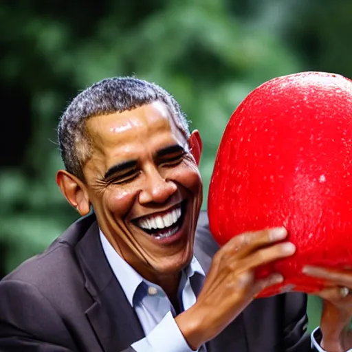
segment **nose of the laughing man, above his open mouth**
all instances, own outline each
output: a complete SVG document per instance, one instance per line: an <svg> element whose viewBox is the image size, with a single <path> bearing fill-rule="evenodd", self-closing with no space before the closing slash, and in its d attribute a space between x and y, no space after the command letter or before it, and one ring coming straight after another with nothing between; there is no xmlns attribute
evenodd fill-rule
<svg viewBox="0 0 352 352"><path fill-rule="evenodd" d="M145 175L146 179L139 195L141 204L165 203L177 191L176 184L164 179L156 168L151 168Z"/></svg>

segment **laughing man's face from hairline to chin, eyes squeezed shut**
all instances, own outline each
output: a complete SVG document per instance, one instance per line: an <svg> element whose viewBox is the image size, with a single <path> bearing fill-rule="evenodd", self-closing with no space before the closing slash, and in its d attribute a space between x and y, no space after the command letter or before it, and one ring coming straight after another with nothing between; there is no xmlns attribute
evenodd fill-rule
<svg viewBox="0 0 352 352"><path fill-rule="evenodd" d="M83 173L102 232L147 278L175 274L193 255L201 177L166 105L153 102L87 122Z"/></svg>

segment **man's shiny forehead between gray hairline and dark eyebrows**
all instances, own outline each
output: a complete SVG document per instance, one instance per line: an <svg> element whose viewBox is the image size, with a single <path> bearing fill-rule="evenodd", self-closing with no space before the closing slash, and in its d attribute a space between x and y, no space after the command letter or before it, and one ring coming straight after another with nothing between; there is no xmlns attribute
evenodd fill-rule
<svg viewBox="0 0 352 352"><path fill-rule="evenodd" d="M131 111L99 115L87 121L94 146L103 154L138 153L158 144L179 142L184 137L163 102L153 102ZM122 156L122 155L121 155Z"/></svg>

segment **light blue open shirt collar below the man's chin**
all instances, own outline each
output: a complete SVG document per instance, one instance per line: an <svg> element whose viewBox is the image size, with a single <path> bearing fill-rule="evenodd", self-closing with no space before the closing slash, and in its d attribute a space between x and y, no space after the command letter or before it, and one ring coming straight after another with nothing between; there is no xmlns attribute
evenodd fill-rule
<svg viewBox="0 0 352 352"><path fill-rule="evenodd" d="M129 263L121 258L100 229L99 235L102 243L102 250L113 270L113 274L118 279L127 300L129 300L130 305L133 307L133 296L135 295L138 286L140 286L142 282L148 283L148 281L138 274ZM186 274L187 279L192 277L195 273L200 274L201 276L206 276L195 256L193 256L192 261L190 261L190 264L185 268L184 273Z"/></svg>

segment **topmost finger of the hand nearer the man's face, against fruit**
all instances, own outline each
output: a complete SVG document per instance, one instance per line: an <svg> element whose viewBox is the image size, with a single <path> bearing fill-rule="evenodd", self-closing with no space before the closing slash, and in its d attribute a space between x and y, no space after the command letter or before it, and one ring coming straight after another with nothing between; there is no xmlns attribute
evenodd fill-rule
<svg viewBox="0 0 352 352"><path fill-rule="evenodd" d="M245 232L234 236L223 246L223 250L230 255L237 253L239 256L246 256L248 253L262 248L265 245L282 241L286 236L287 230L285 228L271 228L255 232Z"/></svg>

